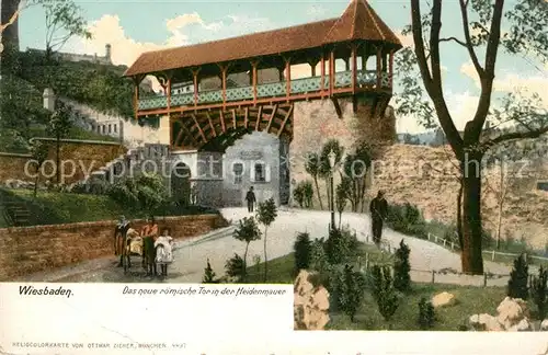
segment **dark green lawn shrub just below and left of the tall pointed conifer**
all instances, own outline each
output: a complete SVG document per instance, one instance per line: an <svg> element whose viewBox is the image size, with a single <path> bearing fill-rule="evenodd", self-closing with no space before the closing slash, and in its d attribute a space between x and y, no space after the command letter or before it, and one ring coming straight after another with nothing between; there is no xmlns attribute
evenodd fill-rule
<svg viewBox="0 0 548 355"><path fill-rule="evenodd" d="M399 306L399 297L393 288L390 267L374 265L372 267L373 297L385 321L390 321Z"/></svg>

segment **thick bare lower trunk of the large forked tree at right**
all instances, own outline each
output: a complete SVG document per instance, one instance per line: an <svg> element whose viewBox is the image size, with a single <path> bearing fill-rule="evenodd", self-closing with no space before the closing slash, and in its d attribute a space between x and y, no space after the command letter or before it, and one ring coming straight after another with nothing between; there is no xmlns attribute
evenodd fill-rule
<svg viewBox="0 0 548 355"><path fill-rule="evenodd" d="M480 153L468 153L461 162L463 169L463 273L483 274L481 254L481 158Z"/></svg>

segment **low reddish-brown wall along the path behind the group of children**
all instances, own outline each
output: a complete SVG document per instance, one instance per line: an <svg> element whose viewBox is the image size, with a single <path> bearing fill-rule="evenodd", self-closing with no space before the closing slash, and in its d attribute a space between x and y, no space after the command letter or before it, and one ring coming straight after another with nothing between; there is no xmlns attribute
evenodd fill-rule
<svg viewBox="0 0 548 355"><path fill-rule="evenodd" d="M0 282L113 255L115 224L95 221L0 229ZM140 229L144 224L144 220L134 220L133 227ZM220 215L165 217L158 219L158 224L160 229L170 228L175 239L227 226Z"/></svg>

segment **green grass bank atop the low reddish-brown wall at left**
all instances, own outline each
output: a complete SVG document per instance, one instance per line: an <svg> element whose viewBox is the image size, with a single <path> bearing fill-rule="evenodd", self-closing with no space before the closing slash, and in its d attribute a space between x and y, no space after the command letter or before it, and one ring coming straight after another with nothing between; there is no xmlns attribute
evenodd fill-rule
<svg viewBox="0 0 548 355"><path fill-rule="evenodd" d="M130 219L146 217L145 213L132 213L109 196L103 195L38 191L35 198L31 190L0 188L0 201L4 198L24 204L31 213L30 224L33 226L111 220L118 218L119 215L125 215ZM163 214L159 211L157 215L183 216L214 213L217 213L217 210L191 206L179 209L167 207ZM7 227L3 217L0 218L0 226L2 222L3 227Z"/></svg>

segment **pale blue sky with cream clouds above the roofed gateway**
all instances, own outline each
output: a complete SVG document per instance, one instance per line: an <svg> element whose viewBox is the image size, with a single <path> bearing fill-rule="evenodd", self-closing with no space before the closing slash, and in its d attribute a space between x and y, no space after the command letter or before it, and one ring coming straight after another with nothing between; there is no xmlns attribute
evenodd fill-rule
<svg viewBox="0 0 548 355"><path fill-rule="evenodd" d="M506 9L516 0L506 1ZM104 55L105 44L112 45L115 65L130 66L147 50L183 46L227 38L248 33L274 30L290 25L340 16L349 0L331 1L183 1L183 0L88 0L76 1L93 38L71 38L61 51ZM412 46L412 38L400 32L410 23L409 0L368 0L378 15L398 34L404 46ZM425 7L426 3L423 4ZM423 10L425 11L425 10ZM463 38L458 1L444 1L442 36ZM31 7L20 18L21 48L45 47L45 18L39 7ZM482 53L479 51L480 61ZM456 126L461 129L472 118L479 98L479 81L468 53L454 43L442 46L443 87ZM501 53L496 62L494 90L502 95L528 88L541 95L548 108L548 66L532 64L521 57ZM307 68L296 68L298 78L309 73ZM397 80L395 92L398 92ZM392 102L393 104L393 99ZM420 133L414 117L398 117L399 133Z"/></svg>

